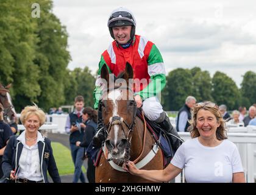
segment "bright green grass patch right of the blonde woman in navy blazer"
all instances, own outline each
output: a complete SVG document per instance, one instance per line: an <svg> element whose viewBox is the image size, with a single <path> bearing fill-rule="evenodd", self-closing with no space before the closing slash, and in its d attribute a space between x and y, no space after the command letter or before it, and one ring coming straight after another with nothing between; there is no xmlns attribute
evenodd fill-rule
<svg viewBox="0 0 256 195"><path fill-rule="evenodd" d="M74 163L70 150L61 143L52 142L51 145L60 176L74 174ZM86 172L84 166L82 166L82 171Z"/></svg>

